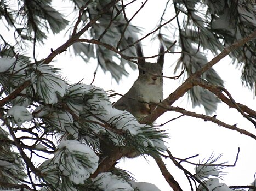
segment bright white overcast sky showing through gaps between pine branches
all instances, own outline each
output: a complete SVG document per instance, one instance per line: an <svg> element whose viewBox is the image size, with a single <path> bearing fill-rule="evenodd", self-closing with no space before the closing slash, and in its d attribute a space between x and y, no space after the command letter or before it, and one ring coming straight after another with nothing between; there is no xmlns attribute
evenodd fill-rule
<svg viewBox="0 0 256 191"><path fill-rule="evenodd" d="M143 34L150 32L155 26L162 11L166 1L157 1L157 7L155 1L149 1L145 8L139 13L133 22L133 25L140 26L145 29ZM133 5L131 10L137 10L140 6L140 1ZM58 8L57 8L58 9ZM64 10L65 8L62 8ZM127 14L129 16L128 10ZM168 17L168 19L170 19ZM175 21L174 21L175 22ZM174 23L173 22L173 23ZM39 57L46 57L50 53L50 48L55 49L63 44L66 37L61 35L56 35L51 37L47 44L42 46L41 49L37 49ZM150 42L151 37L142 41L144 56L152 56L158 52L158 42ZM178 39L174 39L178 40ZM82 79L82 82L89 84L92 82L93 73L96 68L96 61L91 61L90 63L84 63L81 58L70 57L67 51L66 54L58 55L55 58L54 66L62 68L61 73L70 82L76 83ZM179 55L166 55L164 64L164 76L173 76L172 64L177 61ZM208 56L208 60L213 57ZM225 88L231 93L232 97L236 102L242 103L249 106L250 108L256 110L255 100L253 99L253 93L248 90L248 88L242 87L241 84L241 72L231 65L231 60L225 58L215 65L214 69L217 70L218 74L225 81ZM98 71L95 77L93 85L99 86L105 90L113 89L117 93L126 93L130 86L132 86L135 81L138 71L132 71L131 76L128 78L124 77L120 84L117 85L110 77L110 74L104 75L102 71ZM175 88L179 86L179 80L164 80L164 98L166 98L170 93L172 93ZM117 98L116 98L117 99ZM112 99L115 101L116 99ZM175 106L185 108L189 111L195 111L199 114L204 112L203 108L191 108L190 102L187 100L187 96L180 98L174 103ZM179 114L174 112L167 112L162 115L157 123L163 123L168 121L170 118L177 117ZM229 109L225 104L219 104L217 110L217 118L224 121L227 124L236 124L237 127L241 129L248 130L251 133L256 133L255 127L252 123L244 120L240 113L235 109ZM253 182L254 174L256 172L256 144L255 140L249 138L248 136L241 135L238 132L225 129L224 127L219 127L211 122L204 122L200 119L194 119L192 117L181 117L178 120L168 123L162 129L167 129L170 139L166 140L169 150L172 152L173 156L178 158L187 158L194 156L195 154L200 154L199 157L191 159L191 162L198 162L200 159L208 158L211 153L214 152L215 156L223 154L223 157L219 162L229 161L228 164L233 164L236 159L237 148L240 147L240 156L238 162L234 168L223 169L224 172L229 174L224 175L224 182L229 186L238 185L248 185ZM183 190L190 190L189 183L183 174L183 171L176 168L169 159L164 159L167 164L167 169L174 176L174 178L180 183ZM181 163L187 170L190 170L192 174L194 173L194 166ZM156 184L161 190L171 190L166 181L164 180L161 172L158 170L158 166L155 162L149 158L146 162L143 157L138 157L135 159L122 159L118 164L124 170L132 172L137 181L150 182Z"/></svg>

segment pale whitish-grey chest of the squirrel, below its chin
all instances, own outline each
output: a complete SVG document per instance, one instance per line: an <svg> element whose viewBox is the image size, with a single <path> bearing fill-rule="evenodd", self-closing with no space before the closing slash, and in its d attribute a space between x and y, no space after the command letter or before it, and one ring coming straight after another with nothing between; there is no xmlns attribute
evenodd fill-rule
<svg viewBox="0 0 256 191"><path fill-rule="evenodd" d="M158 85L140 86L140 95L145 102L158 103L163 100L163 87Z"/></svg>

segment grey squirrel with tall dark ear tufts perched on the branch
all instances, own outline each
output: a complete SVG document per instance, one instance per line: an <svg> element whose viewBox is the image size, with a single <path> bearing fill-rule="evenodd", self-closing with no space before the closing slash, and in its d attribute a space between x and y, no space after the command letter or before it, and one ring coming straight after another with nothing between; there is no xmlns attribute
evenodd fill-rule
<svg viewBox="0 0 256 191"><path fill-rule="evenodd" d="M113 107L126 110L139 121L149 115L155 105L163 100L163 62L164 45L160 44L159 56L156 63L146 62L143 50L138 43L136 46L138 56L139 76L129 91L120 98Z"/></svg>

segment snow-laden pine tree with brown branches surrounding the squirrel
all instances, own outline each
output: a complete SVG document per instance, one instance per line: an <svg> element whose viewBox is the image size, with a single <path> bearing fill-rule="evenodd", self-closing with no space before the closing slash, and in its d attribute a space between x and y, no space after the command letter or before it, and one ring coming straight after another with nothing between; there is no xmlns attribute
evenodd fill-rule
<svg viewBox="0 0 256 191"><path fill-rule="evenodd" d="M141 153L145 161L153 157L173 190L181 190L183 183L168 171L163 157L184 172L191 190L256 190L255 181L251 186L233 187L219 181L221 169L235 166L240 150L234 165L217 163L221 156L214 155L192 163L190 158L174 157L165 145L169 135L153 124L164 112L173 111L256 139L236 124L210 116L222 102L256 126L256 111L236 103L212 68L230 55L233 64L242 68L243 85L255 89L254 1L167 0L157 27L147 34L133 25L147 0L135 11L130 7L136 0L70 0L65 1L67 7L54 3L59 2L0 0L1 190L159 190L151 183L135 182L129 169L115 166L127 148ZM133 13L130 18L128 11ZM67 41L45 50L49 55L43 57L45 52L38 47L50 36L63 34ZM96 59L97 69L109 72L118 82L129 75L127 66L136 69L135 45L150 35L163 42L164 53L180 53L174 73L181 73L164 77L181 83L140 122L112 107L112 92L70 83L52 66L64 53L81 57L84 63ZM212 61L208 53L215 56ZM204 107L206 115L172 106L185 93L192 106ZM105 145L112 151L106 158L101 151ZM195 173L181 162L195 165Z"/></svg>

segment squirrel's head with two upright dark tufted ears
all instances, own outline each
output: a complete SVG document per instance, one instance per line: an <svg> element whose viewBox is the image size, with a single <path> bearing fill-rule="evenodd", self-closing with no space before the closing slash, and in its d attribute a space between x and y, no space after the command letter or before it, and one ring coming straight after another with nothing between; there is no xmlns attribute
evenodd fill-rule
<svg viewBox="0 0 256 191"><path fill-rule="evenodd" d="M143 50L140 43L137 47L138 68L139 68L139 82L146 83L147 85L162 85L163 83L163 61L164 61L164 45L160 44L159 56L156 63L146 62L143 58Z"/></svg>

